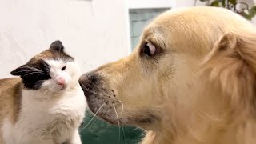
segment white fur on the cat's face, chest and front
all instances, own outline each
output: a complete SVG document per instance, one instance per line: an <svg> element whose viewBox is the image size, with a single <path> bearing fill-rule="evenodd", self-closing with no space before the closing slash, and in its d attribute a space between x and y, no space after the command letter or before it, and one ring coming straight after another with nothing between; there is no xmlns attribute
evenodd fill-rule
<svg viewBox="0 0 256 144"><path fill-rule="evenodd" d="M6 144L81 144L78 134L86 110L86 99L78 84L80 72L75 62L46 60L50 65L50 80L40 90L22 89L21 111L12 125L5 119L2 125ZM66 70L61 70L63 66ZM66 78L66 87L54 82ZM47 90L48 89L48 90Z"/></svg>

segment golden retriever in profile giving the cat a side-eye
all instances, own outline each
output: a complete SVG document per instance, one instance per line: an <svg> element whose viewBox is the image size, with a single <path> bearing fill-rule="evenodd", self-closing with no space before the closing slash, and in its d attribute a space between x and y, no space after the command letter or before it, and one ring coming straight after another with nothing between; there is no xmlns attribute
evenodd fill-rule
<svg viewBox="0 0 256 144"><path fill-rule="evenodd" d="M214 7L170 10L132 54L79 79L90 110L145 144L256 143L256 29Z"/></svg>

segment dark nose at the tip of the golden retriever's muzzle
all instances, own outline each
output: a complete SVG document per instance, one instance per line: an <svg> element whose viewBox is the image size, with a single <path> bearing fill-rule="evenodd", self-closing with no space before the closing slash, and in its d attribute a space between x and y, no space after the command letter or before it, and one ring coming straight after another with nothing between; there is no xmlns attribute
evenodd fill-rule
<svg viewBox="0 0 256 144"><path fill-rule="evenodd" d="M83 74L79 78L79 84L86 97L89 97L91 94L94 94L94 87L97 87L98 79L98 74L94 73Z"/></svg>

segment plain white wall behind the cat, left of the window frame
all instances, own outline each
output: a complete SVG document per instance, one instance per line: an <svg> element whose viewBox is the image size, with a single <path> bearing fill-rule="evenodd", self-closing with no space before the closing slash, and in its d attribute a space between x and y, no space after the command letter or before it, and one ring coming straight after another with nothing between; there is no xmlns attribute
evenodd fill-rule
<svg viewBox="0 0 256 144"><path fill-rule="evenodd" d="M128 53L122 0L1 0L0 78L60 39L82 71Z"/></svg>

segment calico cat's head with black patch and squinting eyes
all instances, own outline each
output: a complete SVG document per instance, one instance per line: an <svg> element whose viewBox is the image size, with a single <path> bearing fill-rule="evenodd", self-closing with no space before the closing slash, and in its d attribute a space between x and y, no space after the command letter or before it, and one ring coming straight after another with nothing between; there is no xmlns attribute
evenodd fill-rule
<svg viewBox="0 0 256 144"><path fill-rule="evenodd" d="M10 74L22 78L27 90L66 90L78 77L78 66L74 58L66 54L62 42L55 41L48 50L37 54L25 65L13 70Z"/></svg>

